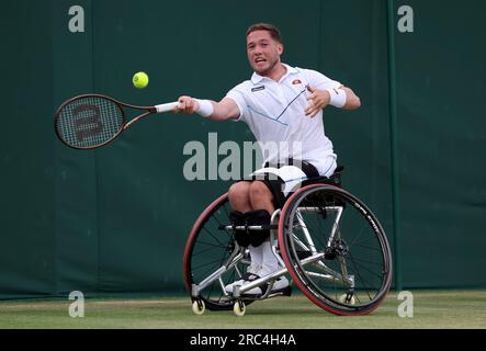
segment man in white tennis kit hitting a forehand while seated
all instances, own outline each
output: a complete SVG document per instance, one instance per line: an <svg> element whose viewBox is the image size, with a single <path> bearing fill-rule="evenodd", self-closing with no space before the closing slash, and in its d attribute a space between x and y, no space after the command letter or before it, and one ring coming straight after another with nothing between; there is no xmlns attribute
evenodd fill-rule
<svg viewBox="0 0 486 351"><path fill-rule="evenodd" d="M354 110L361 102L338 81L315 70L282 64L281 34L271 24L258 23L248 29L247 54L255 70L250 80L233 88L219 102L181 97L174 112L199 113L215 121L245 121L260 145L285 144L282 148L263 147L263 168L253 172L251 179L234 183L228 191L234 225L268 225L274 210L283 205L302 180L330 177L336 169L332 143L325 135L323 109L334 105ZM292 149L292 145L298 147ZM273 176L273 181L269 176ZM228 293L236 284L280 269L269 230L236 230L235 238L249 248L251 264L241 280L225 287ZM289 281L281 276L272 292L287 286ZM246 294L261 295L264 290L265 286L256 287Z"/></svg>

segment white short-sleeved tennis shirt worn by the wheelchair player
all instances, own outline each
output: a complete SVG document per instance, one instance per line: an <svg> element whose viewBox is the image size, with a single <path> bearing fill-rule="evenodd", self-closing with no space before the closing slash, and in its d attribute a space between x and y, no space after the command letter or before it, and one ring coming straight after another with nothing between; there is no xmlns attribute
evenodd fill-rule
<svg viewBox="0 0 486 351"><path fill-rule="evenodd" d="M315 70L284 66L286 73L280 81L253 72L226 98L236 102L237 121L245 121L260 144L263 163L293 157L313 163L325 176L329 165L336 165L336 155L325 134L323 110L313 118L305 115L310 95L306 87L324 90L341 83Z"/></svg>

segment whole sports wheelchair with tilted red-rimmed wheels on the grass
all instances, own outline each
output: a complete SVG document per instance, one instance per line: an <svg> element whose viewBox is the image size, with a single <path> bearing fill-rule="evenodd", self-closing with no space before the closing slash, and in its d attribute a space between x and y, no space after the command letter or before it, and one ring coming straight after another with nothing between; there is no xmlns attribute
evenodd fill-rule
<svg viewBox="0 0 486 351"><path fill-rule="evenodd" d="M389 245L375 215L340 186L342 169L331 178L304 181L268 226L231 226L227 194L213 201L192 227L184 250L184 283L194 314L233 309L244 316L255 301L290 296L292 285L335 315L365 315L377 308L392 283ZM251 262L249 250L236 242L235 229L270 229L282 269L228 294L225 286L241 279ZM273 282L283 274L290 274L291 285L272 294ZM264 284L261 296L245 295Z"/></svg>

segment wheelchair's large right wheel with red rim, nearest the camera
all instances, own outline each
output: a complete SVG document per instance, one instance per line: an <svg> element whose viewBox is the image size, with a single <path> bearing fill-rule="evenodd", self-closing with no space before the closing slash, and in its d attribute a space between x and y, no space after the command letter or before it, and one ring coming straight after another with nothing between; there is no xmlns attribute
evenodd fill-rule
<svg viewBox="0 0 486 351"><path fill-rule="evenodd" d="M282 208L279 246L295 284L332 314L369 314L389 290L386 235L374 214L340 188L310 184L296 191Z"/></svg>

